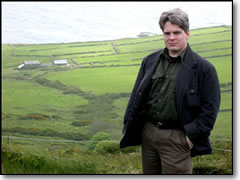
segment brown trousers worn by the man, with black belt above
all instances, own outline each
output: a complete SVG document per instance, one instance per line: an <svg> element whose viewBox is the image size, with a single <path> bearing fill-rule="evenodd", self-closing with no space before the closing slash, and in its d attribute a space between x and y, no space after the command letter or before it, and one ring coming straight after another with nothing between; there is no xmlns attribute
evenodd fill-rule
<svg viewBox="0 0 240 180"><path fill-rule="evenodd" d="M142 133L144 174L192 174L186 135L178 129L160 129L146 122Z"/></svg>

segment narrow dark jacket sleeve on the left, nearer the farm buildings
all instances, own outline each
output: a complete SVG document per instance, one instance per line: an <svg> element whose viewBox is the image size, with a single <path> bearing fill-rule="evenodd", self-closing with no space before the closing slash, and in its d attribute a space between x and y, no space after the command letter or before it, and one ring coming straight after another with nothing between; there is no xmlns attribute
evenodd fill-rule
<svg viewBox="0 0 240 180"><path fill-rule="evenodd" d="M138 90L138 87L144 77L144 74L145 74L145 63L146 63L146 57L143 59L142 61L142 64L141 64L141 67L140 67L140 70L138 72L138 75L137 75L137 79L136 79L136 82L134 84L134 87L133 87L133 90L132 90L132 93L131 93L131 96L130 96L130 99L128 101L128 105L127 105L127 108L126 108L126 111L125 111L125 115L124 115L124 128L123 128L123 134L125 134L125 130L126 130L126 127L127 127L127 122L129 121L129 116L131 114L131 110L132 110L132 105L135 101L135 97L136 97L136 93L137 93L137 90Z"/></svg>

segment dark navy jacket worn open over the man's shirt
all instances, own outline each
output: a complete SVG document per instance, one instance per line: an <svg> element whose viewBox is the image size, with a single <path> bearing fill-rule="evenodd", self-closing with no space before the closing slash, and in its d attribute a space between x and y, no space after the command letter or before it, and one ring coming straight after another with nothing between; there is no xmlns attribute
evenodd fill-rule
<svg viewBox="0 0 240 180"><path fill-rule="evenodd" d="M120 148L141 144L146 97L162 53L163 49L154 52L142 62L124 115ZM176 79L176 107L178 120L194 144L192 156L212 152L209 135L219 106L220 87L214 66L188 45Z"/></svg>

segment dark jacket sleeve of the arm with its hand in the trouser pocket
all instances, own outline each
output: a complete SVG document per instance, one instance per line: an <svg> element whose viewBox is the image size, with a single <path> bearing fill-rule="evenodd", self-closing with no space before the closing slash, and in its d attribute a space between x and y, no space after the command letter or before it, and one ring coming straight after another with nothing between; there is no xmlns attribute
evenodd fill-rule
<svg viewBox="0 0 240 180"><path fill-rule="evenodd" d="M212 65L203 74L200 93L200 112L192 122L184 126L187 136L193 143L197 142L199 138L210 135L220 107L219 80Z"/></svg>

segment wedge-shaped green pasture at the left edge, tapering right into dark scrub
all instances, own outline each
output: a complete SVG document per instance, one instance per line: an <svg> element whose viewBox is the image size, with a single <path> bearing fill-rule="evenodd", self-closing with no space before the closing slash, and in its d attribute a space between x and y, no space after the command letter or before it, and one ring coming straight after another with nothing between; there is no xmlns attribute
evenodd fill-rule
<svg viewBox="0 0 240 180"><path fill-rule="evenodd" d="M58 109L69 111L77 105L88 103L80 96L74 97L70 94L63 96L56 89L30 82L10 79L2 82L2 88L2 111L7 114L51 112L50 108L53 112Z"/></svg>

